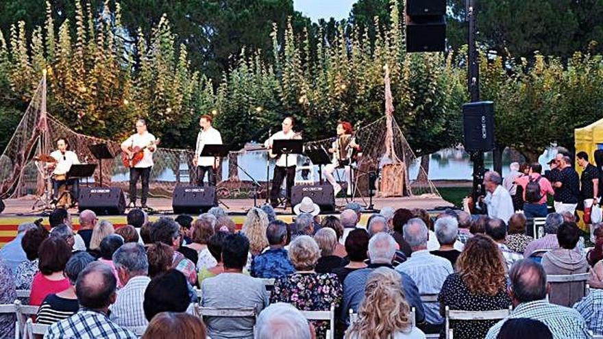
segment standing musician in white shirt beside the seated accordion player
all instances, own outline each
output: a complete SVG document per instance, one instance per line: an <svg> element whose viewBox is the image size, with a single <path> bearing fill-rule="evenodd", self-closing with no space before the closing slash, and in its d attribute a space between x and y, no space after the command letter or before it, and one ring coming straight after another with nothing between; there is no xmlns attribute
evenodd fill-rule
<svg viewBox="0 0 603 339"><path fill-rule="evenodd" d="M282 131L279 131L273 134L266 142L264 142L264 147L267 149L272 149L272 144L274 140L281 139L300 139L298 133L293 131L293 125L295 125L295 120L292 116L287 116L284 118L282 122ZM286 177L286 194L287 201L285 204L285 208L291 206L291 188L293 184L295 184L295 166L297 165L297 154L281 154L278 156L276 160L276 164L274 166L274 174L272 179L272 188L270 189L270 204L273 208L278 206L278 198L280 197L280 186L284 178Z"/></svg>

